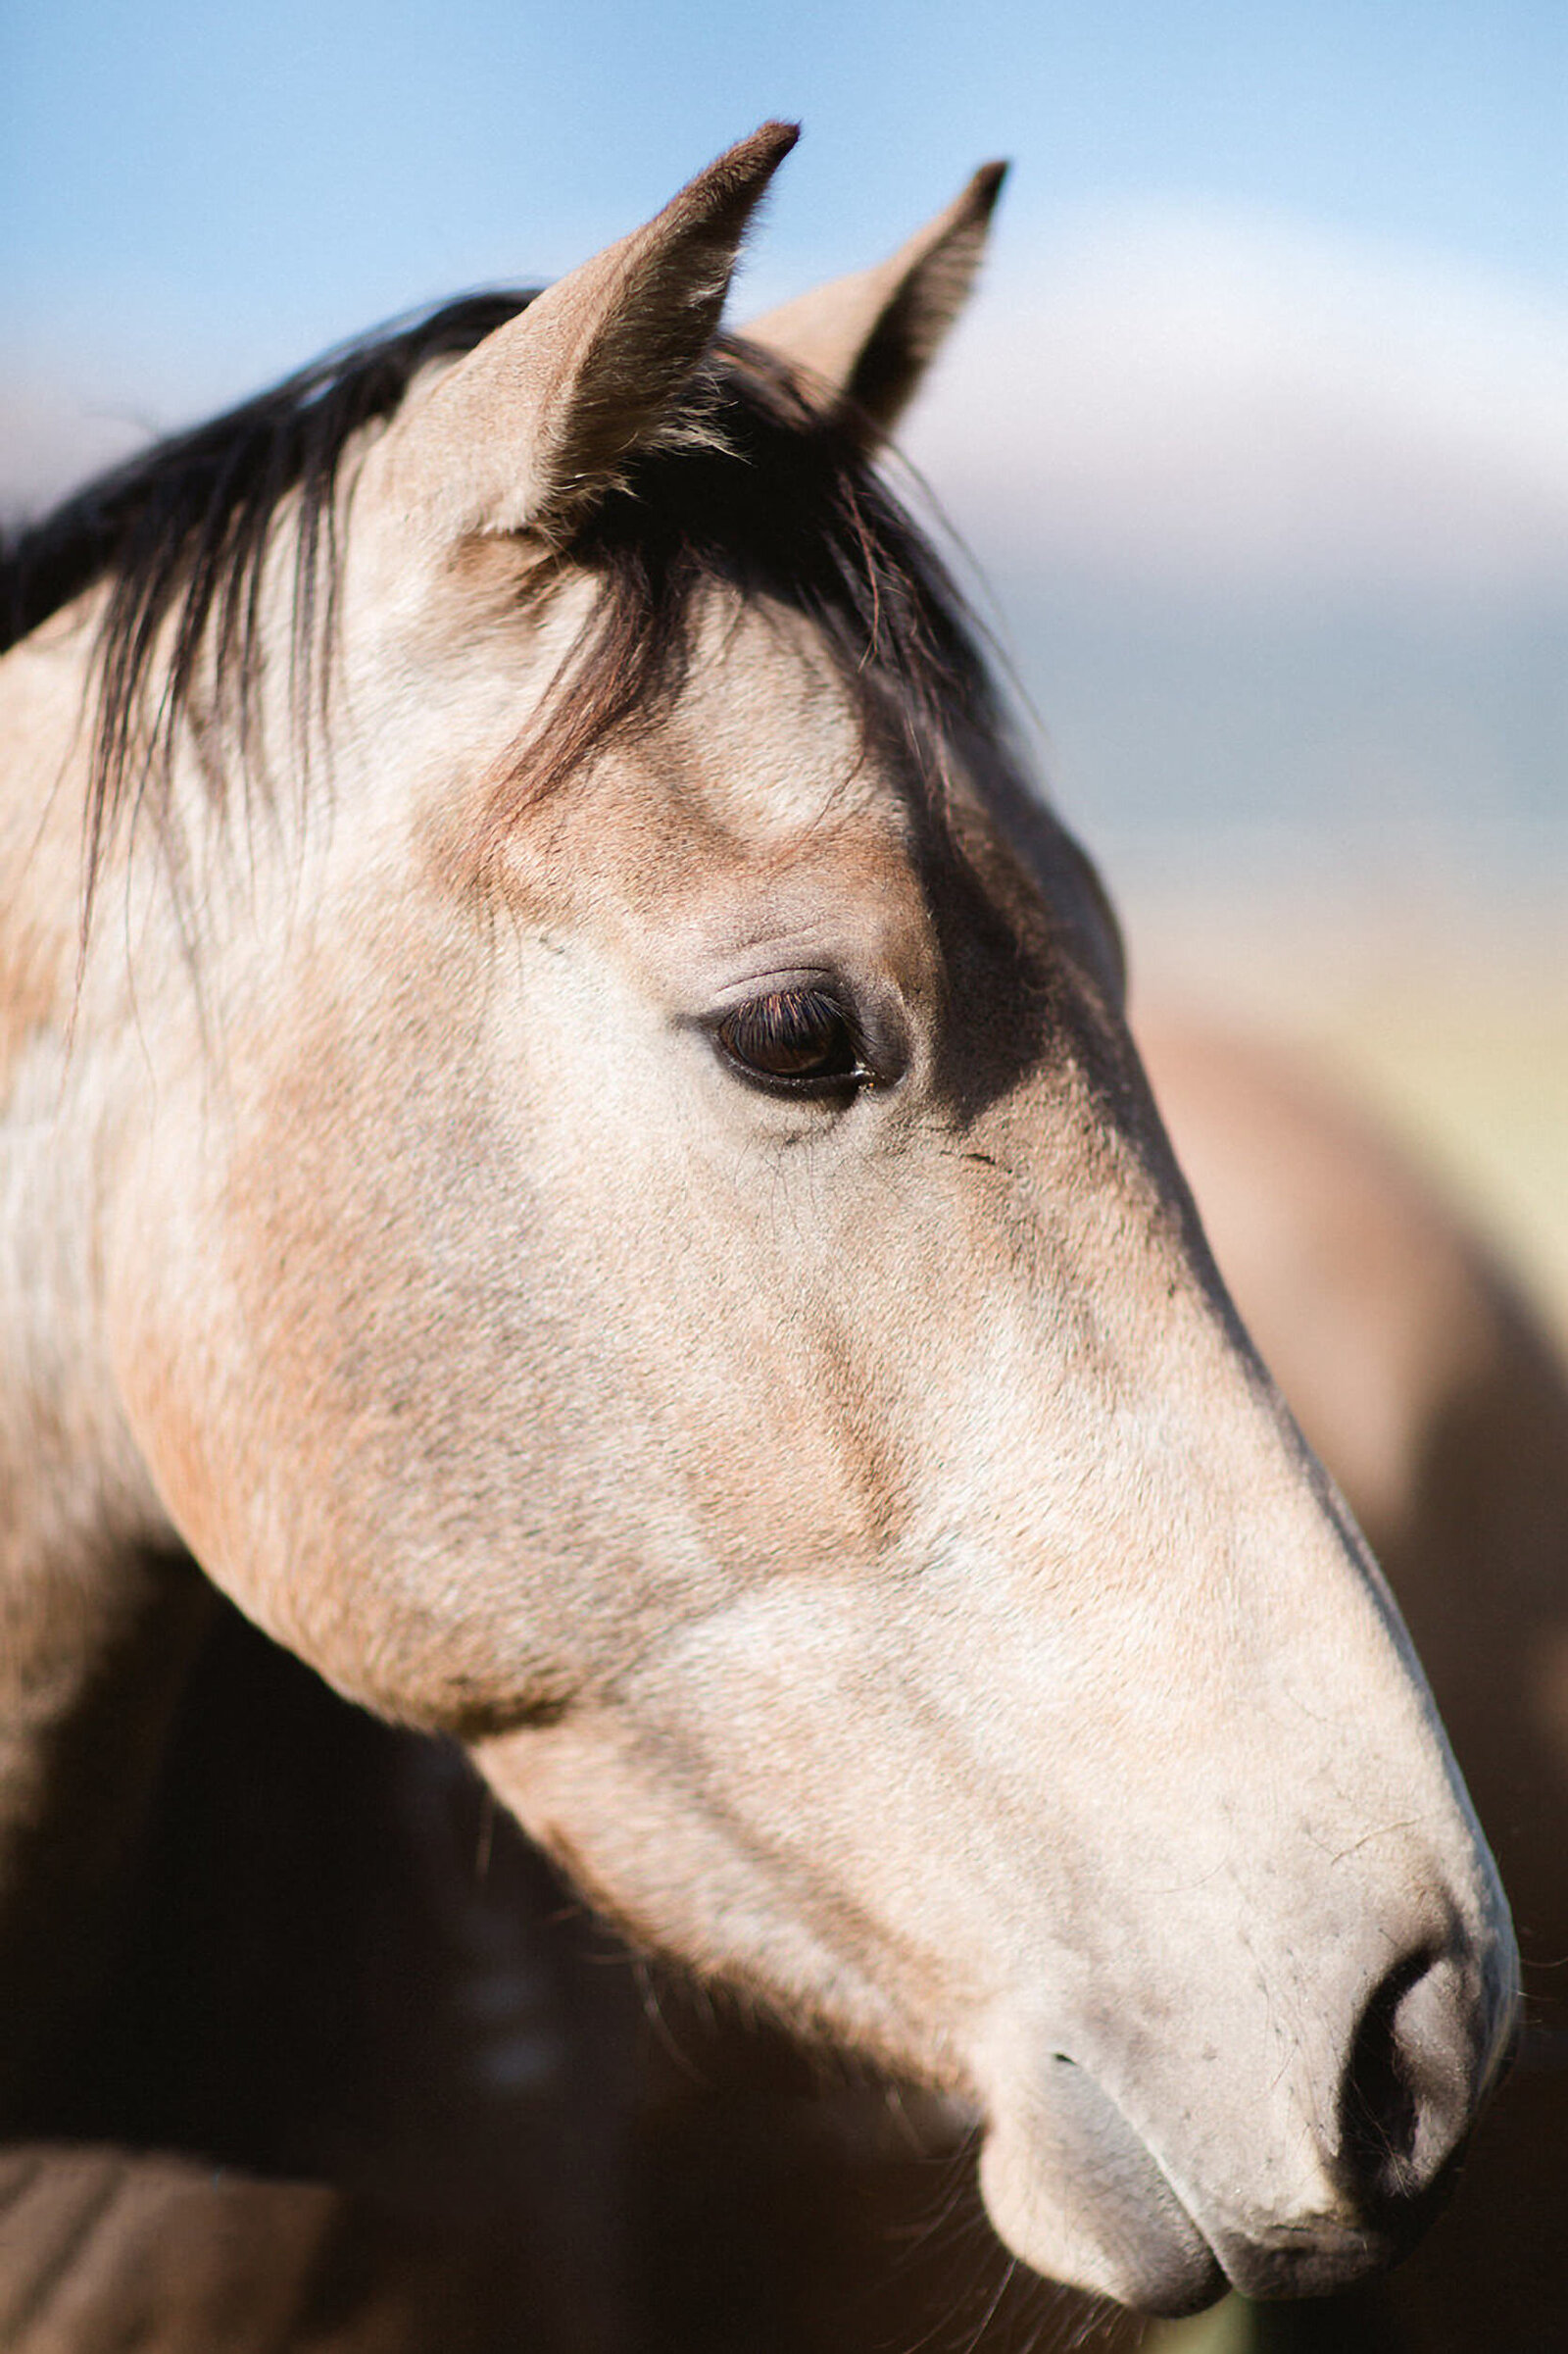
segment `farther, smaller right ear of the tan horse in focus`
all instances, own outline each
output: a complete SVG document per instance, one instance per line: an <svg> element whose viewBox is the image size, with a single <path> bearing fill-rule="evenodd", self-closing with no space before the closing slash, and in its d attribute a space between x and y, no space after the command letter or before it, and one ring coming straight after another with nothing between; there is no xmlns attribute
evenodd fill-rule
<svg viewBox="0 0 1568 2354"><path fill-rule="evenodd" d="M746 339L812 377L859 440L883 440L968 301L1005 172L982 162L897 254L770 311Z"/></svg>

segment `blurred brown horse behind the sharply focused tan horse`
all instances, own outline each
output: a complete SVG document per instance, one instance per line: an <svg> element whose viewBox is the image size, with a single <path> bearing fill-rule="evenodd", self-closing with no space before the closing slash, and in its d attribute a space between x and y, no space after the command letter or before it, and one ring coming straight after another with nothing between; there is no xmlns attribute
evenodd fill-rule
<svg viewBox="0 0 1568 2354"><path fill-rule="evenodd" d="M1349 2300L1227 2312L1222 2342L1544 2354L1568 2305L1568 1370L1467 1217L1309 1064L1158 1003L1135 1033L1248 1330L1431 1662L1528 1989L1523 2055L1417 2255ZM144 2316L158 2354L315 2345L325 2316L356 2354L499 2354L518 2314L563 2354L1140 2342L1001 2281L937 2112L678 1982L650 2022L633 1959L452 1749L337 1702L231 1608L139 1878L57 2112L92 2147L0 2161L0 2342L21 2354L89 2354ZM45 2302L28 2335L21 2295L82 2213L73 2328Z"/></svg>

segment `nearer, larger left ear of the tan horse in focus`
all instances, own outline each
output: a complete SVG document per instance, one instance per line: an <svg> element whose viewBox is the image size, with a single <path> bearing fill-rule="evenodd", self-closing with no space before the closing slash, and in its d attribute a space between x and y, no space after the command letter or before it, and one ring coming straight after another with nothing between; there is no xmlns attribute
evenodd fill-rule
<svg viewBox="0 0 1568 2354"><path fill-rule="evenodd" d="M796 139L796 125L765 122L487 334L393 426L393 499L443 539L570 532L687 388L746 221Z"/></svg>

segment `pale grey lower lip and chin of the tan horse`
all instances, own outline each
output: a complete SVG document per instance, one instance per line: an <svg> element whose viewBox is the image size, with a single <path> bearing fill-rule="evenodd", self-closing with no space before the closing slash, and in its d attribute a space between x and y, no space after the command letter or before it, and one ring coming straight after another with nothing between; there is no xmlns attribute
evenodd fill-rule
<svg viewBox="0 0 1568 2354"><path fill-rule="evenodd" d="M1224 2295L1215 2250L1092 2076L1052 2060L1045 2100L986 2135L979 2189L1034 2272L1177 2319Z"/></svg>

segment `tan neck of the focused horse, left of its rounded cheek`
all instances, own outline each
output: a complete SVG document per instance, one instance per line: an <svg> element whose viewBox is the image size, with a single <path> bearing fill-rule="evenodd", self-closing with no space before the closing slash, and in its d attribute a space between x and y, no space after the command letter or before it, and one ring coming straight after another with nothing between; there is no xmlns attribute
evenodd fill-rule
<svg viewBox="0 0 1568 2354"><path fill-rule="evenodd" d="M104 1328L137 1017L78 956L87 643L57 624L0 661L0 2116L42 2123L200 1608L158 1565Z"/></svg>

